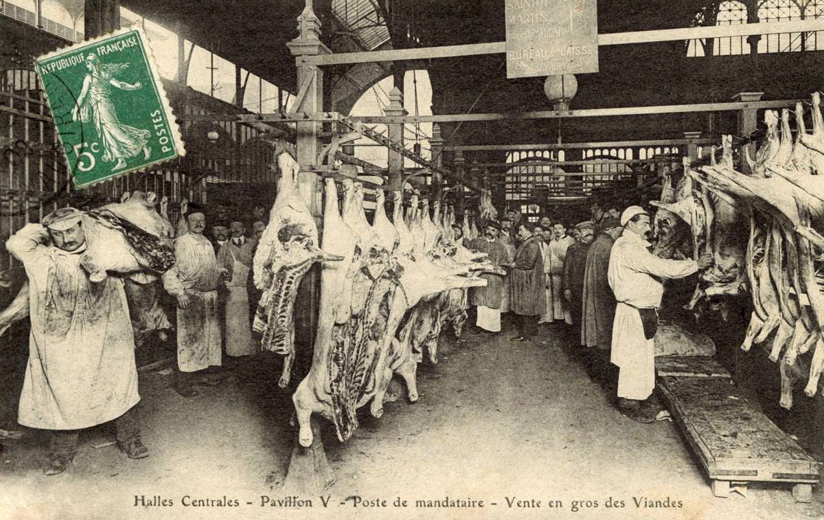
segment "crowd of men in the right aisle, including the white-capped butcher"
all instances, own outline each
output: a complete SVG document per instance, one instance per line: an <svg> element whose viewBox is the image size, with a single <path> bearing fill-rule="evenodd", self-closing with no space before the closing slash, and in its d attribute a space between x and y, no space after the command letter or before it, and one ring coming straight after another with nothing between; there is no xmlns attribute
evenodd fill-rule
<svg viewBox="0 0 824 520"><path fill-rule="evenodd" d="M678 279L704 269L698 260L664 260L650 251L652 227L640 206L622 212L593 204L591 220L567 227L541 216L536 223L517 210L486 225L484 236L466 243L489 253L505 275L483 274L486 287L472 289L475 325L501 330L511 312L514 341L533 340L542 323L559 324L564 336L583 347L598 372L618 368L617 405L622 415L651 423L658 412L650 401L655 387L654 342L662 279ZM544 341L545 344L549 340Z"/></svg>

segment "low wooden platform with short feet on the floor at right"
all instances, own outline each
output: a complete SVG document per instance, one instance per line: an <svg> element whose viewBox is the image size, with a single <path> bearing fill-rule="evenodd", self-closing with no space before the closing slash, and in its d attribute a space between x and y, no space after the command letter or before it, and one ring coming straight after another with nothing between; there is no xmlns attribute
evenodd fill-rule
<svg viewBox="0 0 824 520"><path fill-rule="evenodd" d="M656 359L658 388L687 443L712 480L713 494L746 491L753 481L793 485L798 502L812 500L821 463L798 446L733 384L713 358Z"/></svg>

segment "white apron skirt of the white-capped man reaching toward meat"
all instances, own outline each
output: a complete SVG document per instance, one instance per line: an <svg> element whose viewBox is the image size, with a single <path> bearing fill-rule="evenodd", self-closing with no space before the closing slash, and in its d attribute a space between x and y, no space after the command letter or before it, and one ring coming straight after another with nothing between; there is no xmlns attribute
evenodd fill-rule
<svg viewBox="0 0 824 520"><path fill-rule="evenodd" d="M644 337L638 309L618 302L612 326L611 362L620 368L618 396L643 401L655 389L655 340Z"/></svg>

